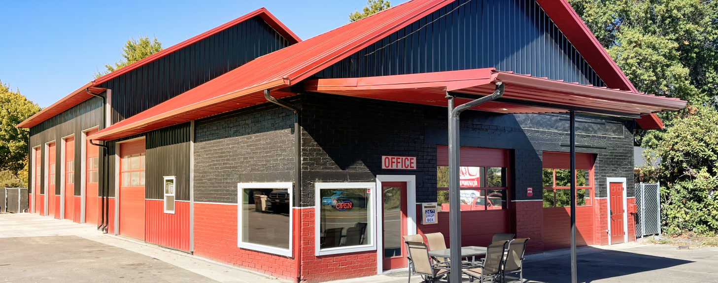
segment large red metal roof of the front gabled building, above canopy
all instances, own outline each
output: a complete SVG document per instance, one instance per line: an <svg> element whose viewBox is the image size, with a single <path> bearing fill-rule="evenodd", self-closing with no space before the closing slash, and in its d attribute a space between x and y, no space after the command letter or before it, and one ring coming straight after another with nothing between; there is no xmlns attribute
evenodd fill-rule
<svg viewBox="0 0 718 283"><path fill-rule="evenodd" d="M361 50L388 34L406 27L453 0L413 0L346 24L325 34L257 58L246 65L193 88L142 113L103 129L92 139L112 140L159 129L225 111L265 103L264 89L280 89L297 83L339 60ZM554 3L560 2L560 3ZM579 52L597 64L597 72L611 88L635 91L565 0L539 1L559 28L569 29L567 37ZM554 11L556 10L556 11ZM573 27L572 27L573 26ZM563 29L561 29L563 31ZM582 41L584 39L584 41ZM587 59L587 60L589 60ZM292 93L274 92L277 98ZM650 117L650 116L649 116ZM643 120L643 119L641 119ZM659 120L660 121L660 120ZM653 121L655 122L655 121ZM650 123L647 123L650 124ZM653 123L654 125L656 123ZM646 129L646 128L644 128Z"/></svg>

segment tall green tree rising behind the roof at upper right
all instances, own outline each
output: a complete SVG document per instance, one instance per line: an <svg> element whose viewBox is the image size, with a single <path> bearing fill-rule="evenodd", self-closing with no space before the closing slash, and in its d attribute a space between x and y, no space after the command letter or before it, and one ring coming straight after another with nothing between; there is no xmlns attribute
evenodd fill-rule
<svg viewBox="0 0 718 283"><path fill-rule="evenodd" d="M718 96L718 1L569 3L639 91L694 105L714 103Z"/></svg>

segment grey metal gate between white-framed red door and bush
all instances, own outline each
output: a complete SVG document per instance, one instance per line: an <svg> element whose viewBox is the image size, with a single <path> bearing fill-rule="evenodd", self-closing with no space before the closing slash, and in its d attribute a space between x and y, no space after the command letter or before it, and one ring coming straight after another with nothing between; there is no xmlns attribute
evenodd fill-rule
<svg viewBox="0 0 718 283"><path fill-rule="evenodd" d="M661 183L636 186L636 226L637 237L661 234Z"/></svg>

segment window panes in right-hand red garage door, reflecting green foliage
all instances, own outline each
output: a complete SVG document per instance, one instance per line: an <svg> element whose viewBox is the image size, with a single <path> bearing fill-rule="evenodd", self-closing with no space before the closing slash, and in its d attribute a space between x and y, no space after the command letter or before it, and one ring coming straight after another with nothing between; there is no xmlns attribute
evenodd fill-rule
<svg viewBox="0 0 718 283"><path fill-rule="evenodd" d="M567 169L544 168L544 208L571 206L571 175ZM593 190L589 170L576 170L576 205L591 205Z"/></svg>

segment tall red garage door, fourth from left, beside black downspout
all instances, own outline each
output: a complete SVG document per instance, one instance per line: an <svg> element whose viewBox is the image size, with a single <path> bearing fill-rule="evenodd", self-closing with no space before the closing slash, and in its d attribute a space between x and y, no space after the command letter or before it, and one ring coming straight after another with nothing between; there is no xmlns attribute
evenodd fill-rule
<svg viewBox="0 0 718 283"><path fill-rule="evenodd" d="M95 134L97 130L88 131L87 136ZM98 147L90 144L90 140L85 141L85 222L100 224L98 219L100 211L100 200L98 194L98 180L100 178L100 157L98 157Z"/></svg>

